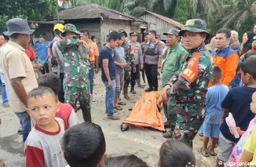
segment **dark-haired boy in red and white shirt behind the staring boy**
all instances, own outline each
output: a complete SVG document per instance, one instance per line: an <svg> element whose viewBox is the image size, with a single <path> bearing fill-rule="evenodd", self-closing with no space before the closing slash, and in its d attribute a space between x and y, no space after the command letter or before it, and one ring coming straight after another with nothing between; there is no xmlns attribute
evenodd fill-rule
<svg viewBox="0 0 256 167"><path fill-rule="evenodd" d="M60 93L60 77L57 74L44 74L38 81L39 86L46 86L53 90L56 95L57 102L60 103L58 96ZM57 118L61 118L64 121L65 130L73 125L79 124L79 118L77 118L73 107L68 103L60 103L60 111L56 113Z"/></svg>

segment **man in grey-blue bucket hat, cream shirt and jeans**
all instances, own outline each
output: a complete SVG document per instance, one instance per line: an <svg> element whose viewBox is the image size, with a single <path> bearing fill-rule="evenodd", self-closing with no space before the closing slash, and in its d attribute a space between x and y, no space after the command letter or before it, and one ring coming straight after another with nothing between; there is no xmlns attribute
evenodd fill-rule
<svg viewBox="0 0 256 167"><path fill-rule="evenodd" d="M5 87L12 111L20 120L23 141L31 131L31 118L26 112L27 93L38 87L35 70L40 67L32 65L25 50L29 48L30 35L34 32L27 21L15 18L7 21L9 42L0 49L0 63L5 76Z"/></svg>

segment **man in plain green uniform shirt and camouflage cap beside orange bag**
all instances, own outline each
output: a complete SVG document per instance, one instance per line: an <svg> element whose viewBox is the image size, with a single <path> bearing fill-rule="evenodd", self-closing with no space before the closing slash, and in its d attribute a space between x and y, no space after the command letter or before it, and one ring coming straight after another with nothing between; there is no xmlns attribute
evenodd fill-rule
<svg viewBox="0 0 256 167"><path fill-rule="evenodd" d="M166 59L163 62L162 88L170 82L170 78L177 74L184 62L185 56L188 54L188 52L179 44L178 33L179 31L176 28L171 28L168 32L163 33L166 35L166 46L168 49L166 50ZM171 129L164 133L163 136L170 138L174 132L177 120L176 101L174 96L171 96L167 103L163 103L163 111L167 118L165 127Z"/></svg>

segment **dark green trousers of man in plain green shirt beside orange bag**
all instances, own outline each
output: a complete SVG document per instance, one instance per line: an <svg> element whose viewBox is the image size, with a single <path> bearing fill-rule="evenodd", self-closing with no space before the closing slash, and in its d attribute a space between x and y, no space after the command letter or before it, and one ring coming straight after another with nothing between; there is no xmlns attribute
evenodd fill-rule
<svg viewBox="0 0 256 167"><path fill-rule="evenodd" d="M163 103L163 111L167 118L167 122L170 123L172 130L176 125L177 121L177 111L176 111L176 99L175 97L170 97L167 103Z"/></svg>

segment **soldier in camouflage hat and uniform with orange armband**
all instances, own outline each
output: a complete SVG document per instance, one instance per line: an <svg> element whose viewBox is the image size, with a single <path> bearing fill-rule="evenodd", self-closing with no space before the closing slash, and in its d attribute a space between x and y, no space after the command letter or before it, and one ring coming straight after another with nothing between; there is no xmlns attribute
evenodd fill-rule
<svg viewBox="0 0 256 167"><path fill-rule="evenodd" d="M207 51L204 41L210 38L206 30L207 24L203 20L188 20L179 32L183 36L183 44L188 50L185 62L177 74L165 86L158 104L176 97L177 121L173 138L188 143L192 147L192 140L203 124L206 107L207 85L213 71L213 60Z"/></svg>

